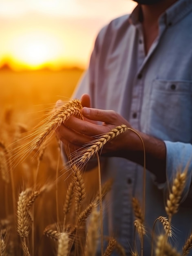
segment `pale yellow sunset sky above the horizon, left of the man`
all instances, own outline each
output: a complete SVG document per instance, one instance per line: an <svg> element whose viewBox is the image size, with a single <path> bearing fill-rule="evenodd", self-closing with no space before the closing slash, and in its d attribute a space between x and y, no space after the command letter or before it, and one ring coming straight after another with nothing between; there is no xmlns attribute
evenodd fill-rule
<svg viewBox="0 0 192 256"><path fill-rule="evenodd" d="M99 29L134 7L132 0L0 0L0 65L86 67Z"/></svg>

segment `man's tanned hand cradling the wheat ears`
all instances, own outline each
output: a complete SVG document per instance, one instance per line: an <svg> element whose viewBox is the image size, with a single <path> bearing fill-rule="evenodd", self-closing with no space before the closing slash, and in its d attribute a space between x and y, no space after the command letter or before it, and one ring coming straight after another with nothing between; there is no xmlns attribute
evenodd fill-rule
<svg viewBox="0 0 192 256"><path fill-rule="evenodd" d="M73 153L74 150L79 150L85 143L93 140L93 136L109 132L116 126L125 124L127 127L131 128L126 119L112 110L83 108L82 115L84 115L86 121L70 117L65 122L65 125L57 129L58 137L65 146L68 147L70 153ZM93 121L102 121L103 123L102 125L97 125L97 123ZM141 145L140 141L139 143ZM126 131L124 134L108 142L104 146L102 153L108 156L124 156L128 148L132 147L132 145L135 148L137 144L137 135L135 135L134 132L131 132L130 135L130 131Z"/></svg>

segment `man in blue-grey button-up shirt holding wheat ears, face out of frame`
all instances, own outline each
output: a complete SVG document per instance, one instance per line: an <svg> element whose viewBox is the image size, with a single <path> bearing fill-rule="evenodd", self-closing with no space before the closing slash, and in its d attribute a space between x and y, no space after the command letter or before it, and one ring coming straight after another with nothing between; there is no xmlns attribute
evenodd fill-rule
<svg viewBox="0 0 192 256"><path fill-rule="evenodd" d="M145 225L149 233L155 219L166 216L164 192L178 170L188 166L170 240L181 251L192 231L192 1L137 2L130 16L113 20L97 36L89 68L73 95L73 99L82 97L83 106L88 107L82 110L87 121L71 117L57 134L74 150L91 136L121 124L138 132L146 150ZM143 201L139 136L127 131L102 150L107 156L102 179L115 180L105 206L104 234L113 234L127 255L134 244L132 197ZM150 242L148 235L144 255L150 255Z"/></svg>

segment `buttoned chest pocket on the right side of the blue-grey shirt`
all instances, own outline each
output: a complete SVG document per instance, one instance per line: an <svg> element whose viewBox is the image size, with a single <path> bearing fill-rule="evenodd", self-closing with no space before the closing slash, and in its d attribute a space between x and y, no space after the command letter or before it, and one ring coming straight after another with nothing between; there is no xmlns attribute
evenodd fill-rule
<svg viewBox="0 0 192 256"><path fill-rule="evenodd" d="M192 81L154 80L148 106L149 134L192 142Z"/></svg>

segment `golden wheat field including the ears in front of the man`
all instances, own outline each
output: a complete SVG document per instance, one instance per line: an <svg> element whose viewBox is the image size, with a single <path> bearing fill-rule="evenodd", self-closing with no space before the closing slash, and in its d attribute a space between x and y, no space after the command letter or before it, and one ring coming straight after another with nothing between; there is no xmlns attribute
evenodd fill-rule
<svg viewBox="0 0 192 256"><path fill-rule="evenodd" d="M81 75L82 70L77 69L0 72L0 256L95 256L98 243L101 256L110 256L113 251L125 256L113 236L103 236L102 200L113 181L101 185L98 152L127 130L137 132L121 124L95 137L80 153L70 155L69 167L63 166L54 131L72 115L83 119L81 101L70 99ZM64 103L54 109L58 99ZM145 159L144 144L143 152ZM93 156L97 156L98 166L84 172ZM168 217L157 216L154 221L151 256L186 256L192 248L192 234L182 252L168 241L173 235L172 216L177 214L187 180L186 168L178 170L172 181L165 205ZM145 161L143 171L145 177ZM132 207L140 248L131 245L131 255L143 256L145 209L137 198L132 198ZM154 234L156 222L163 225L164 233L159 237ZM104 240L108 242L105 248Z"/></svg>

